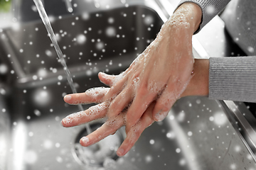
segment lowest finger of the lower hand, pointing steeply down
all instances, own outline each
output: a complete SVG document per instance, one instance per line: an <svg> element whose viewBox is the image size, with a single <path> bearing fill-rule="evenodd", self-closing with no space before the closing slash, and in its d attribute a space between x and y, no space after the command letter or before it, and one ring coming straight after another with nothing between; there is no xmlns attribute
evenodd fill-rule
<svg viewBox="0 0 256 170"><path fill-rule="evenodd" d="M139 120L139 122L134 125L131 129L127 130L127 137L125 138L124 142L122 142L122 145L117 149L117 155L119 157L124 156L124 154L127 154L129 150L134 146L135 142L139 139L140 135L142 135L142 132L149 127L152 123L154 123L154 120L152 118L152 111L154 108L154 103L151 103L149 108L146 110L146 112L142 115L142 118Z"/></svg>

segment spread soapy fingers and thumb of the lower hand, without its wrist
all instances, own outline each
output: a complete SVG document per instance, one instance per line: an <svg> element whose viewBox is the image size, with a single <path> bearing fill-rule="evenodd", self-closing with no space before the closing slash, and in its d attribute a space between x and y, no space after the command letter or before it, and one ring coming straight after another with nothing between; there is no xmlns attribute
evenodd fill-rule
<svg viewBox="0 0 256 170"><path fill-rule="evenodd" d="M100 80L105 84L112 86L114 84L114 79L117 77L100 77ZM104 118L107 115L107 108L110 105L109 101L104 101L105 94L109 91L110 88L95 88L89 89L82 94L70 94L64 97L64 100L70 104L85 104L85 103L99 103L96 106L92 106L86 111L82 111L79 113L73 113L68 115L66 118L62 120L62 125L64 127L73 127L76 125L81 125L83 123L88 123L92 120L97 120L99 118ZM139 122L134 125L132 128L126 128L127 137L125 138L122 145L117 150L117 155L119 157L127 154L129 149L131 149L135 142L139 139L139 136L142 132L149 127L154 120L151 116L151 112L153 111L155 103L151 103L149 108L145 111L142 118L140 118ZM102 125L102 127L98 128L87 137L82 137L80 140L80 144L84 147L88 147L90 145L99 142L104 139L108 135L114 134L119 128L125 125L126 122L126 111L123 111L119 115L108 118L107 121Z"/></svg>

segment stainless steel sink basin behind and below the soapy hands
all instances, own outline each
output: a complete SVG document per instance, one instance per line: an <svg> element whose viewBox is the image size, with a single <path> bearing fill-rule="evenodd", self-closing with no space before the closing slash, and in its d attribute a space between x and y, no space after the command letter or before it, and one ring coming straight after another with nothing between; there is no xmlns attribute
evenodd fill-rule
<svg viewBox="0 0 256 170"><path fill-rule="evenodd" d="M98 72L123 72L154 40L164 14L149 2L52 21L78 92L104 86ZM15 25L0 36L0 68L7 70L0 72L0 169L255 169L222 105L196 96L179 99L127 155L111 157L112 166L88 165L78 146L85 125L60 125L78 107L63 101L71 90L43 23ZM124 129L117 135L122 141Z"/></svg>

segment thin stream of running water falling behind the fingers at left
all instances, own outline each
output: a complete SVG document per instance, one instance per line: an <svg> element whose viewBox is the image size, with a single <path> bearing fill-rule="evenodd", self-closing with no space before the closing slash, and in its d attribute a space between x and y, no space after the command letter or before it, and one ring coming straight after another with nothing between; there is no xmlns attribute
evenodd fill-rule
<svg viewBox="0 0 256 170"><path fill-rule="evenodd" d="M70 88L71 88L73 94L76 94L77 91L75 89L73 79L71 77L70 71L68 70L67 64L64 60L63 52L60 50L60 46L58 45L57 39L56 39L55 34L53 32L53 28L50 25L50 21L49 21L49 18L47 16L45 8L43 7L43 3L42 3L41 0L33 0L33 1L36 4L36 8L38 9L38 13L41 16L43 24L46 26L48 36L50 37L50 40L53 42L53 46L54 46L54 48L57 52L57 55L60 59L60 63L63 65L63 69L64 69L65 74L66 74L67 79L68 79L68 84L70 85ZM78 105L78 108L79 108L80 111L84 111L83 108L82 108L82 105ZM90 128L90 125L89 124L85 124L85 125L86 125L87 134L90 134L92 132L92 130Z"/></svg>

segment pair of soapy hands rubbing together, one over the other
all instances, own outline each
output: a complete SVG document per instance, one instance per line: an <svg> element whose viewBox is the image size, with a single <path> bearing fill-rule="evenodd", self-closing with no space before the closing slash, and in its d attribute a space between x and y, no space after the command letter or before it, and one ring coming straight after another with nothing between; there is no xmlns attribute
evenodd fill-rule
<svg viewBox="0 0 256 170"><path fill-rule="evenodd" d="M163 120L186 89L193 71L192 35L201 22L201 8L193 3L180 6L161 28L156 40L130 67L118 76L100 73L111 88L70 94L70 104L99 103L87 111L69 115L63 126L72 127L107 116L101 128L80 140L89 146L126 125L127 138L117 150L126 154L154 120Z"/></svg>

